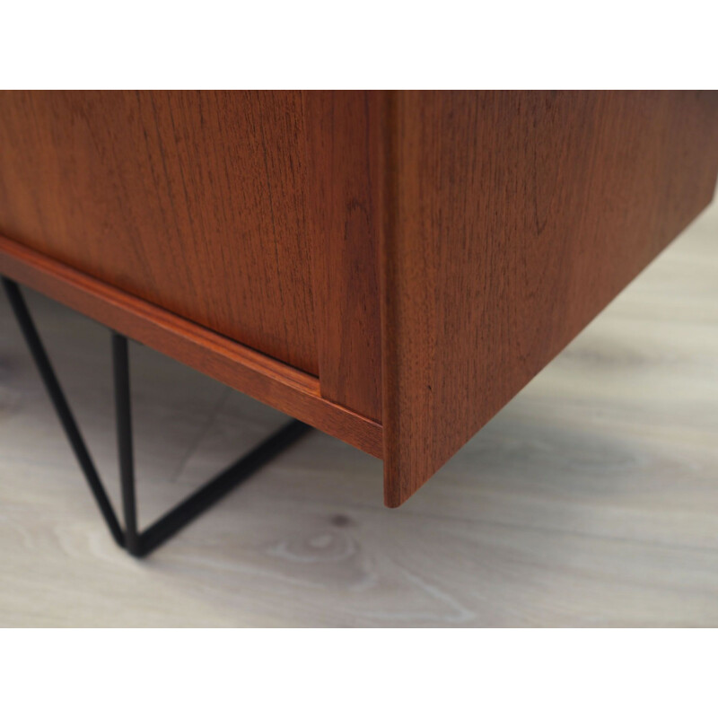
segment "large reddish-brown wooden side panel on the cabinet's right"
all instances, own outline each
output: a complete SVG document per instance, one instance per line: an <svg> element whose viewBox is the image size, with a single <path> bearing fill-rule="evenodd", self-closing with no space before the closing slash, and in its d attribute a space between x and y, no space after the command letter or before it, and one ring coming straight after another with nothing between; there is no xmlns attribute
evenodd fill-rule
<svg viewBox="0 0 718 718"><path fill-rule="evenodd" d="M715 92L398 93L384 258L397 506L711 200Z"/></svg>

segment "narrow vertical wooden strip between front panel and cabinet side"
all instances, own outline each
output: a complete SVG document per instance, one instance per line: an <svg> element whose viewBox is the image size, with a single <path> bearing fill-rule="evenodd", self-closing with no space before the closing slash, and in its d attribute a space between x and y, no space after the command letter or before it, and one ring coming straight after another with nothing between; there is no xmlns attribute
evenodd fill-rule
<svg viewBox="0 0 718 718"><path fill-rule="evenodd" d="M302 94L321 394L381 421L384 93Z"/></svg>

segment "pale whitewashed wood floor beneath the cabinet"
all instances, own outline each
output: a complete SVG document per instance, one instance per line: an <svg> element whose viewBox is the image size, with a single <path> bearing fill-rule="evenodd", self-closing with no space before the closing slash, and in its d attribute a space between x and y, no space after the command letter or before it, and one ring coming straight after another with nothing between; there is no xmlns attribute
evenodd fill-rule
<svg viewBox="0 0 718 718"><path fill-rule="evenodd" d="M26 293L118 505L105 329ZM133 346L141 517L284 417ZM318 432L144 561L0 297L4 626L718 626L718 206L404 507Z"/></svg>

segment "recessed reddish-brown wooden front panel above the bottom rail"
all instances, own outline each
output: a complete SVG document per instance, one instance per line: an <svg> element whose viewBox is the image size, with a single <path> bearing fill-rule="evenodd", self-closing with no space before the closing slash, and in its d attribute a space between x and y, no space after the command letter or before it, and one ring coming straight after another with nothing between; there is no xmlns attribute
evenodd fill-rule
<svg viewBox="0 0 718 718"><path fill-rule="evenodd" d="M0 233L317 374L299 92L1 92Z"/></svg>

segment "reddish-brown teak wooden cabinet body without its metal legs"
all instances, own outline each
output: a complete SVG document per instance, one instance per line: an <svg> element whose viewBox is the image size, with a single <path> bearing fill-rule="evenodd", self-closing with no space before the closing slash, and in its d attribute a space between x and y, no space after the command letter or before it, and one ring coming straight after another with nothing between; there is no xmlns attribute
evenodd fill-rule
<svg viewBox="0 0 718 718"><path fill-rule="evenodd" d="M711 200L717 92L0 93L0 273L397 506Z"/></svg>

